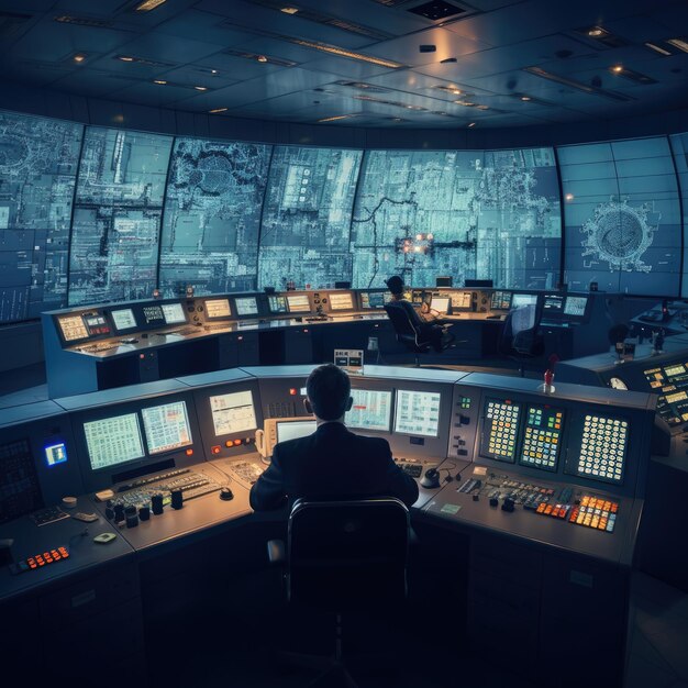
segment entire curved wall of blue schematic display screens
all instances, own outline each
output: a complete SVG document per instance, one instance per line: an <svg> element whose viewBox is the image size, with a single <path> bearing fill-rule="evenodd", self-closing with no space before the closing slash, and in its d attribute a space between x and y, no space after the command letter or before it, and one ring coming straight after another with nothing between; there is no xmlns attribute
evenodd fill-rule
<svg viewBox="0 0 688 688"><path fill-rule="evenodd" d="M688 295L688 135L670 144L562 146L557 166L553 148L364 154L0 113L0 323L155 287L377 287L393 273L553 288L565 267L572 288Z"/></svg>

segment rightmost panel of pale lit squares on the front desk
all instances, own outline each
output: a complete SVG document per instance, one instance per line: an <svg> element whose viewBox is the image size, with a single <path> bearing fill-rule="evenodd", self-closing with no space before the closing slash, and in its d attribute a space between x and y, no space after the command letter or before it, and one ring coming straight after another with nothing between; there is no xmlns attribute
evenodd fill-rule
<svg viewBox="0 0 688 688"><path fill-rule="evenodd" d="M623 480L628 442L628 421L586 414L576 474L620 484Z"/></svg>

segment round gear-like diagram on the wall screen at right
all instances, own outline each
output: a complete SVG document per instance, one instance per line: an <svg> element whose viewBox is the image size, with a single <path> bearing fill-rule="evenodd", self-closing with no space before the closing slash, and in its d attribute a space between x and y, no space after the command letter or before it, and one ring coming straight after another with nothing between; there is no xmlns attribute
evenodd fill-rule
<svg viewBox="0 0 688 688"><path fill-rule="evenodd" d="M657 224L648 221L650 211L646 203L639 207L615 200L601 203L581 228L587 234L582 255L609 263L610 269L650 273L652 266L641 259L657 231ZM653 214L658 222L659 214Z"/></svg>

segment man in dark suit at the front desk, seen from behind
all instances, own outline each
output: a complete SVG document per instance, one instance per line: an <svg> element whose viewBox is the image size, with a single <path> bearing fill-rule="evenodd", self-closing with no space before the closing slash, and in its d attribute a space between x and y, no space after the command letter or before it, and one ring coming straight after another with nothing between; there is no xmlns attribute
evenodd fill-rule
<svg viewBox="0 0 688 688"><path fill-rule="evenodd" d="M351 381L332 364L315 368L306 382L306 409L315 414L312 435L280 442L273 462L251 489L256 511L279 509L300 497L320 500L397 497L418 499L415 480L395 464L387 440L349 432Z"/></svg>

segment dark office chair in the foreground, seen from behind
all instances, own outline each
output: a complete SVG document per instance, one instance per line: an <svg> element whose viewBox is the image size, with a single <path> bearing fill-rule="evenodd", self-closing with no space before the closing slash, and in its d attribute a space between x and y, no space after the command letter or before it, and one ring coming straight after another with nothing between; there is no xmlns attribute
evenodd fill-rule
<svg viewBox="0 0 688 688"><path fill-rule="evenodd" d="M410 520L393 498L295 502L288 542L268 542L270 563L285 567L290 604L335 613L330 657L285 653L322 670L309 686L356 687L342 652L342 611L385 609L407 596ZM336 681L340 683L336 683Z"/></svg>

